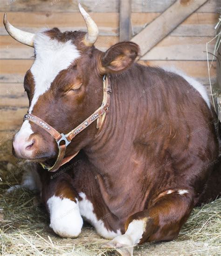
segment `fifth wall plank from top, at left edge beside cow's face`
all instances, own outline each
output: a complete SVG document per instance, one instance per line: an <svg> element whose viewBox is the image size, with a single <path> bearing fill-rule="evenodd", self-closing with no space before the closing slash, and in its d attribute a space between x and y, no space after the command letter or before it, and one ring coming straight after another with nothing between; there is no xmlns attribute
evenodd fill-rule
<svg viewBox="0 0 221 256"><path fill-rule="evenodd" d="M0 83L0 107L28 108L28 96L23 83Z"/></svg>

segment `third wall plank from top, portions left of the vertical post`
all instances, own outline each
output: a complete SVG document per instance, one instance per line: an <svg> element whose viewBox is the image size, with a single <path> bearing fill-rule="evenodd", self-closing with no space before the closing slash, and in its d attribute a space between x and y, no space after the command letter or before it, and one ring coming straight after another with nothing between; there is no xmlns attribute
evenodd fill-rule
<svg viewBox="0 0 221 256"><path fill-rule="evenodd" d="M111 45L116 44L119 37L98 37L95 46L101 51L106 51ZM10 36L0 36L0 59L31 59L34 49L21 44Z"/></svg>

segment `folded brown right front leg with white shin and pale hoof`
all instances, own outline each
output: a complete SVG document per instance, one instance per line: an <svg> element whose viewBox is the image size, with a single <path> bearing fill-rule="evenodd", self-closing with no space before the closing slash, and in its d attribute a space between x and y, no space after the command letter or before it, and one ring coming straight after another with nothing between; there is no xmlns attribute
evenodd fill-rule
<svg viewBox="0 0 221 256"><path fill-rule="evenodd" d="M147 210L131 215L125 223L125 234L104 244L121 255L132 255L133 248L145 241L170 241L193 209L193 197L186 189L167 190Z"/></svg>

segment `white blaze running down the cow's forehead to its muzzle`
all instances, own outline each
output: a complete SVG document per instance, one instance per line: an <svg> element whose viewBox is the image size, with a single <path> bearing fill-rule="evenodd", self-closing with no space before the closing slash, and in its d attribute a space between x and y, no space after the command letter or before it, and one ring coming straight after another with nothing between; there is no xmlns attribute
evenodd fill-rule
<svg viewBox="0 0 221 256"><path fill-rule="evenodd" d="M71 40L59 42L48 37L43 31L36 34L34 45L36 59L30 71L34 77L35 91L28 113L32 112L39 96L48 91L55 77L80 57L79 51ZM44 106L41 107L44 108ZM29 121L25 121L16 134L15 140L18 139L20 143L28 141L32 133Z"/></svg>

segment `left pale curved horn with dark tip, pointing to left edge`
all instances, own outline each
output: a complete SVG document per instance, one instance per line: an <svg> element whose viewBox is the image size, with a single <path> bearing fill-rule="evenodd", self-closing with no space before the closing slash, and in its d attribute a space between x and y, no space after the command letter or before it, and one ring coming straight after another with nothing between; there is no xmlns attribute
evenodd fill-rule
<svg viewBox="0 0 221 256"><path fill-rule="evenodd" d="M35 34L22 31L20 29L16 29L13 25L11 25L7 21L7 14L5 13L3 23L5 25L5 28L8 32L8 34L13 37L15 40L20 42L21 44L26 44L28 46L34 47L34 37Z"/></svg>

